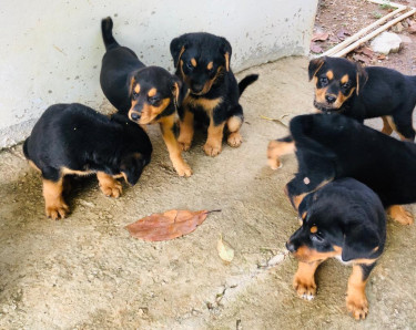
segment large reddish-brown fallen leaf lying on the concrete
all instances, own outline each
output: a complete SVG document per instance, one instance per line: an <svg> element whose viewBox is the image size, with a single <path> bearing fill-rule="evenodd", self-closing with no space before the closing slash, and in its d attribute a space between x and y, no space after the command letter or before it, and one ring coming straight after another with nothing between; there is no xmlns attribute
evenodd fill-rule
<svg viewBox="0 0 416 330"><path fill-rule="evenodd" d="M201 225L206 216L219 210L177 210L155 213L144 217L125 228L130 235L149 241L169 240L190 234Z"/></svg>

